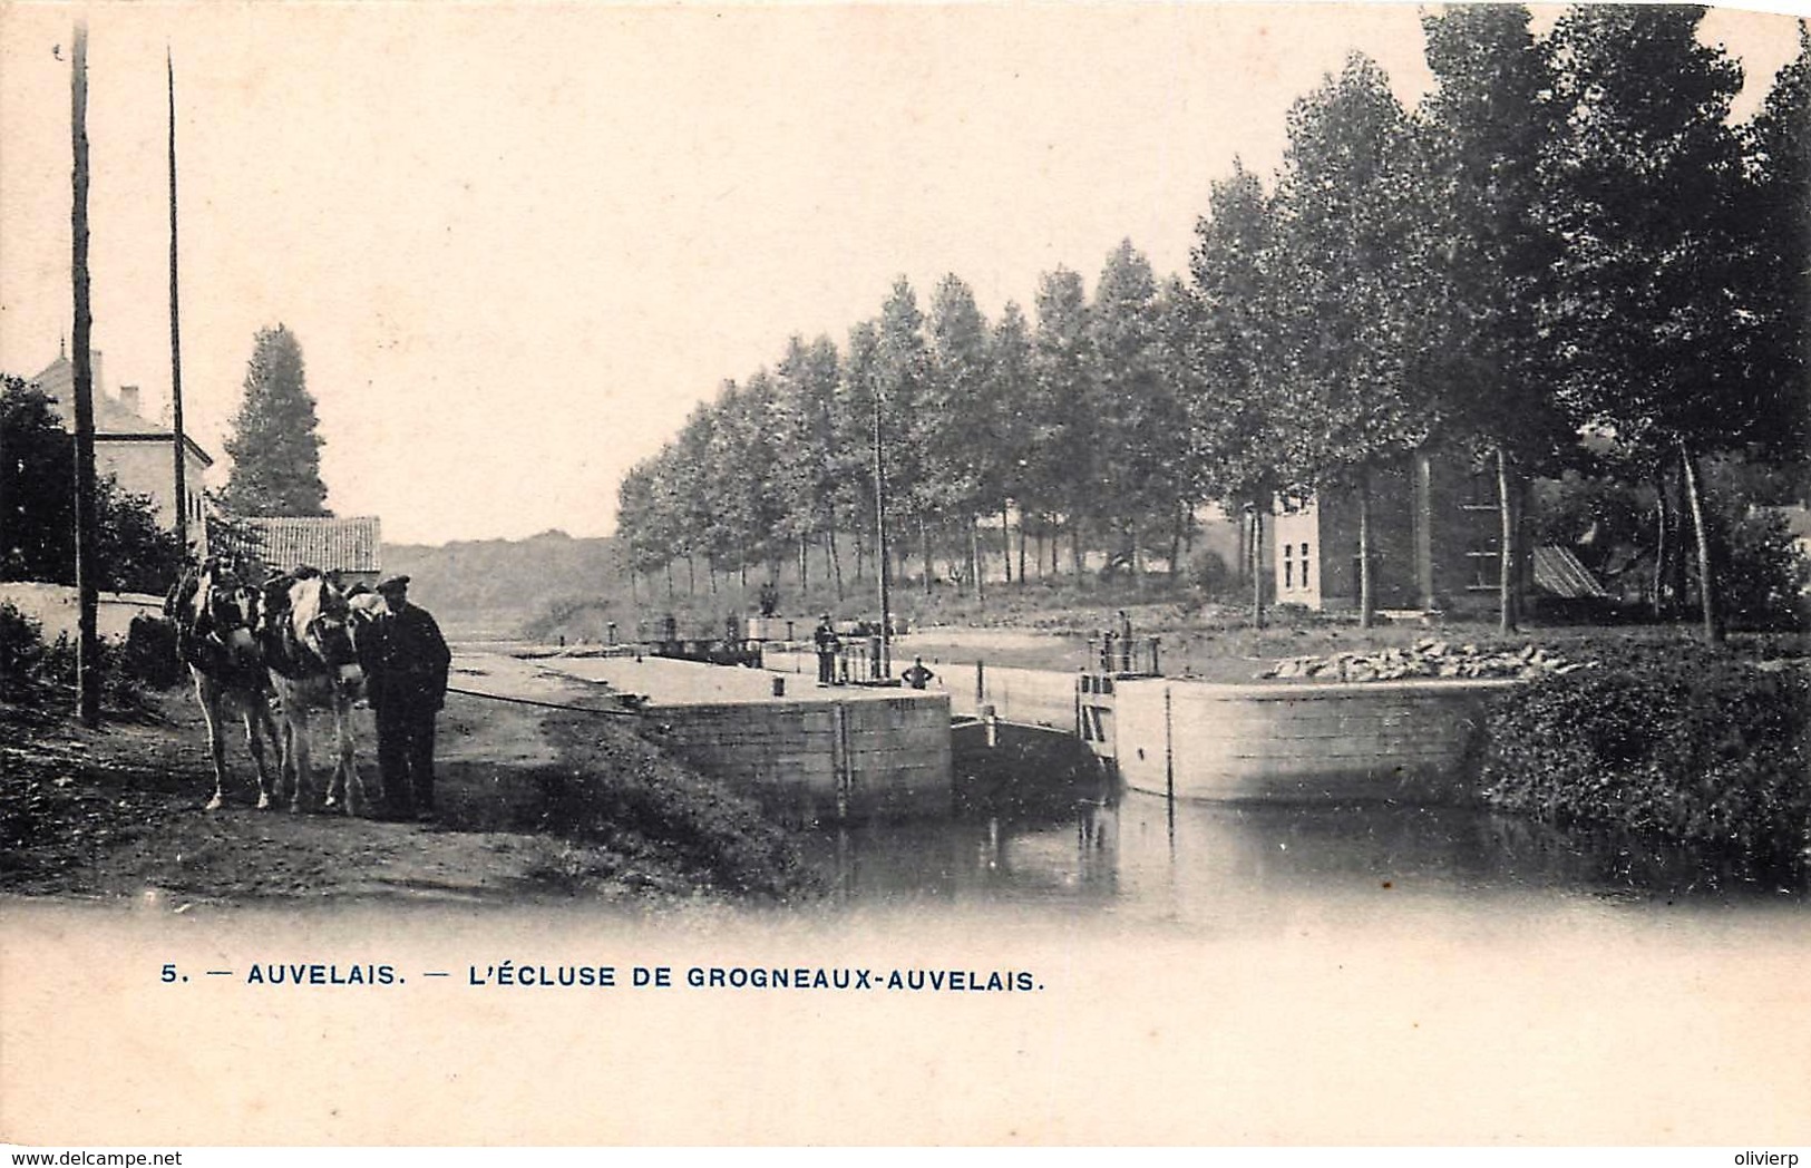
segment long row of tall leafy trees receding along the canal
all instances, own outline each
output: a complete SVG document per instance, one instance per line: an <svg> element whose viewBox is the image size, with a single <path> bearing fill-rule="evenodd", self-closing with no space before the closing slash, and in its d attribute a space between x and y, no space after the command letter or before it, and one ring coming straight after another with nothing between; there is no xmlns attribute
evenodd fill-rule
<svg viewBox="0 0 1811 1168"><path fill-rule="evenodd" d="M1186 281L1123 243L1092 299L1047 273L1036 324L1016 304L989 322L954 275L925 313L898 281L842 349L795 337L623 480L634 563L804 572L822 549L840 587L878 445L925 587L933 536L962 531L980 589L980 520L1009 509L1023 579L1027 532L1065 534L1078 570L1088 547L1141 570L1164 543L1177 561L1204 500L1262 516L1337 487L1367 619L1369 474L1438 444L1496 465L1512 627L1519 483L1594 427L1662 500L1677 483L1715 636L1699 462L1806 440L1811 36L1731 125L1740 65L1701 18L1586 5L1536 36L1514 5L1427 16L1427 100L1405 110L1353 56L1289 112L1268 188L1237 161L1213 185Z"/></svg>

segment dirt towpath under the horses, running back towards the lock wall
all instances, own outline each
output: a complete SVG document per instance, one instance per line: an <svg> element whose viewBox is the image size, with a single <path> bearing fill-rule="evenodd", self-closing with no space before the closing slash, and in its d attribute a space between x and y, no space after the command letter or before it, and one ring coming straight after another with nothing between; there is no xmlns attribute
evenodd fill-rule
<svg viewBox="0 0 1811 1168"><path fill-rule="evenodd" d="M556 775L570 784L585 766L672 766L641 759L639 741L623 726L592 724L608 715L545 708L614 706L599 688L471 654L455 659L453 685L543 704L449 695L440 717L436 824L257 811L243 735L226 746L226 806L203 811L214 779L187 690L154 695L147 715L114 719L98 732L62 713L0 704L0 895L147 898L177 911L270 900L523 904L574 896L645 907L708 884L695 857L663 855L659 838L590 840L549 822ZM328 757L330 733L317 730L317 761ZM357 733L360 771L377 793L366 710L357 712ZM599 744L608 748L603 757ZM590 757L576 761L576 753ZM315 800L324 780L317 766Z"/></svg>

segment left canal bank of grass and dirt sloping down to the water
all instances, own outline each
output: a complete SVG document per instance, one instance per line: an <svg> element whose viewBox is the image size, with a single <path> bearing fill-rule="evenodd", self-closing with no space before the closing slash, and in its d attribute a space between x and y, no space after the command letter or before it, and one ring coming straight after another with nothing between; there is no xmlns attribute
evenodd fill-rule
<svg viewBox="0 0 1811 1168"><path fill-rule="evenodd" d="M114 708L101 730L83 730L65 704L51 692L0 703L0 893L168 907L585 900L643 911L813 889L793 837L752 804L585 715L541 726L520 706L449 703L442 819L426 826L257 811L232 732L226 808L206 813L214 775L185 690L147 694L130 717ZM357 733L375 795L366 712Z"/></svg>

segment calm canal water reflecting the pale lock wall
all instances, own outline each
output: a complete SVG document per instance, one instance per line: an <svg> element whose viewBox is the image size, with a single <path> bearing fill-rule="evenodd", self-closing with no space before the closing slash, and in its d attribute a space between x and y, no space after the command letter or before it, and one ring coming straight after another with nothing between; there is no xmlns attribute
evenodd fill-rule
<svg viewBox="0 0 1811 1168"><path fill-rule="evenodd" d="M826 829L811 858L857 904L1041 902L1184 922L1376 896L1806 904L1802 875L1760 880L1688 849L1471 808L1068 795L1059 808L982 800L942 820Z"/></svg>

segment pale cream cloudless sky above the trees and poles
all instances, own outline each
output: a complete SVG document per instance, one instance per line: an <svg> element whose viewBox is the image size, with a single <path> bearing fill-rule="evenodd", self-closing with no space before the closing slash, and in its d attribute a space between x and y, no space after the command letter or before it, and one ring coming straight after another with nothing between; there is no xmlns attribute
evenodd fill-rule
<svg viewBox="0 0 1811 1168"><path fill-rule="evenodd" d="M994 319L1130 237L1183 272L1362 51L1414 103L1411 4L18 4L0 0L0 369L71 331L69 56L89 24L94 348L168 402L165 49L183 406L219 462L259 328L302 346L339 514L389 543L608 534L616 487L793 333L947 272ZM1543 18L1550 20L1548 11ZM1789 13L1713 11L1751 109Z"/></svg>

